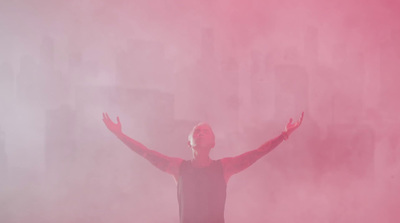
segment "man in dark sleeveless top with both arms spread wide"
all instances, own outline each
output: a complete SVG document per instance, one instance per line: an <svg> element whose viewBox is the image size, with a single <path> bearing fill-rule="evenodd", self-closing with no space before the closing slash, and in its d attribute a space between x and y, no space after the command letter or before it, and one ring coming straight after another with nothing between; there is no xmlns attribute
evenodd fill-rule
<svg viewBox="0 0 400 223"><path fill-rule="evenodd" d="M178 185L181 223L224 223L226 184L229 178L251 166L283 140L287 140L301 125L303 116L304 113L295 123L292 123L290 119L279 136L267 141L259 148L220 160L210 159L210 151L215 146L215 136L206 123L196 125L190 132L188 145L192 150L193 158L183 160L150 150L125 135L121 130L119 117L117 117L117 123L114 123L107 113L103 113L103 121L107 128L130 149L175 178Z"/></svg>

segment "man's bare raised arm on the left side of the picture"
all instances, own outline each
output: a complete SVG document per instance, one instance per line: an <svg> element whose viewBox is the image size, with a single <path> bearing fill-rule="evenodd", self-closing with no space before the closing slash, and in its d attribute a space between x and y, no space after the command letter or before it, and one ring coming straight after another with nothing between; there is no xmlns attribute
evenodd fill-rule
<svg viewBox="0 0 400 223"><path fill-rule="evenodd" d="M180 158L173 158L163 155L154 150L148 149L146 146L140 142L130 138L122 132L121 122L119 117L117 117L117 123L114 123L107 113L103 113L103 122L107 128L114 133L125 145L127 145L131 150L147 159L151 164L153 164L158 169L169 173L177 178L179 174L179 166L183 161Z"/></svg>

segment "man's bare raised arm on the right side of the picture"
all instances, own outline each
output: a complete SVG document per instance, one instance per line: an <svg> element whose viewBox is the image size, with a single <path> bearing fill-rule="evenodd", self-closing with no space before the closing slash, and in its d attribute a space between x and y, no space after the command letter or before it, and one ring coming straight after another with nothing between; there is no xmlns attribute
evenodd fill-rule
<svg viewBox="0 0 400 223"><path fill-rule="evenodd" d="M279 136L267 141L257 149L243 153L239 156L222 159L221 162L224 168L225 181L227 182L233 174L239 173L251 166L258 159L277 147L283 140L287 140L289 135L301 125L303 116L304 112L301 114L300 119L295 123L292 123L292 119L290 119L289 123L285 127L285 131L283 131Z"/></svg>

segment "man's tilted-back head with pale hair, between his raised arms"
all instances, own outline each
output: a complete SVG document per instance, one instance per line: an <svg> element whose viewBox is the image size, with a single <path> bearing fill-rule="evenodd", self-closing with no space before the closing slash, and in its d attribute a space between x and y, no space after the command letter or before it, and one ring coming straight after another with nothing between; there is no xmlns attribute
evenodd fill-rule
<svg viewBox="0 0 400 223"><path fill-rule="evenodd" d="M214 148L215 136L211 126L203 122L194 126L188 136L188 144L196 151Z"/></svg>

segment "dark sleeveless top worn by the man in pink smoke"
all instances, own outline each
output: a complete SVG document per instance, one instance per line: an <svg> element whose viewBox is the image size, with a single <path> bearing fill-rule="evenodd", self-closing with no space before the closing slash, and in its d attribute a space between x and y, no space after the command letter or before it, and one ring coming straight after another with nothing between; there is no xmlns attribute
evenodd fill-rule
<svg viewBox="0 0 400 223"><path fill-rule="evenodd" d="M220 160L207 167L183 161L178 178L180 223L224 223L226 182Z"/></svg>

